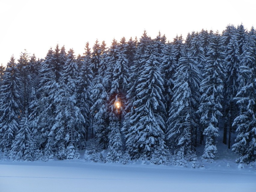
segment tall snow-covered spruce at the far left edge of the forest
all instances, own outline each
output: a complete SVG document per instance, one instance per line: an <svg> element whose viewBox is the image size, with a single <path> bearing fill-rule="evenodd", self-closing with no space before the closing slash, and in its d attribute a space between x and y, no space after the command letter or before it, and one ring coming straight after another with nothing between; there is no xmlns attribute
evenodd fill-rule
<svg viewBox="0 0 256 192"><path fill-rule="evenodd" d="M8 62L0 87L0 146L8 156L11 144L19 130L20 78L14 56Z"/></svg>

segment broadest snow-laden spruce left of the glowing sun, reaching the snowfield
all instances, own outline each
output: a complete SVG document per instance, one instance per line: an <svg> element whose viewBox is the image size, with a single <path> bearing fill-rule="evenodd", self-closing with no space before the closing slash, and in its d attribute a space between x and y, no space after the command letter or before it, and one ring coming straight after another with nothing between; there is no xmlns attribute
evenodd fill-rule
<svg viewBox="0 0 256 192"><path fill-rule="evenodd" d="M79 158L78 146L85 119L77 106L78 66L72 49L68 51L58 88L58 94L54 99L56 123L49 135L55 139L59 159Z"/></svg>

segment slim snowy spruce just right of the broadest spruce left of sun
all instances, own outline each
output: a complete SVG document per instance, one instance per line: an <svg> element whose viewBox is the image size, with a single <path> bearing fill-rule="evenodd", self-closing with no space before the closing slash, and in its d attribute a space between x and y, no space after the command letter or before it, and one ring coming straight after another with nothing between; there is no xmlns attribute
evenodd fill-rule
<svg viewBox="0 0 256 192"><path fill-rule="evenodd" d="M81 129L81 138L83 138L80 144L85 146L85 141L88 140L88 131L92 126L92 117L90 115L90 108L93 105L93 101L90 98L91 90L93 89L93 71L90 69L91 64L91 52L89 43L86 43L85 53L81 62L78 76L78 105L81 113L84 116L85 123L83 125L84 130Z"/></svg>

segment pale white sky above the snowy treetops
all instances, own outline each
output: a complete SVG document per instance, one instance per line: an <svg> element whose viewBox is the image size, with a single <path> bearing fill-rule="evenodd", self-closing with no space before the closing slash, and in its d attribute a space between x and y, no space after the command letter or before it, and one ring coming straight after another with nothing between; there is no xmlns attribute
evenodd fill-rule
<svg viewBox="0 0 256 192"><path fill-rule="evenodd" d="M17 61L24 49L44 58L58 43L78 55L87 41L92 48L98 38L109 47L113 38L139 39L144 30L170 41L201 29L222 32L228 24L249 30L255 9L254 0L1 0L0 65L12 54Z"/></svg>

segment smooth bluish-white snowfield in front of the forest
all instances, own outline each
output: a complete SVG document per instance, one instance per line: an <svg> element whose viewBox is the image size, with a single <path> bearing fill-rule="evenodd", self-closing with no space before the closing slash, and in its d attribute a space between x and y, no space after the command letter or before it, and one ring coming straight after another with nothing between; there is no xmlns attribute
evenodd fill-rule
<svg viewBox="0 0 256 192"><path fill-rule="evenodd" d="M83 159L0 162L0 192L255 192L255 164L218 160L205 169L153 164L93 163Z"/></svg>

